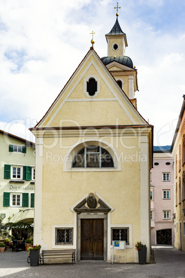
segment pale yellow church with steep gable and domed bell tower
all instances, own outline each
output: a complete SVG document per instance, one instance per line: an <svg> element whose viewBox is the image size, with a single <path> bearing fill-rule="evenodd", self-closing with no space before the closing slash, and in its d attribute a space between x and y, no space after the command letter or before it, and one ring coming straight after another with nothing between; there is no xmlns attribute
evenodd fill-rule
<svg viewBox="0 0 185 278"><path fill-rule="evenodd" d="M36 138L34 243L75 248L77 260L150 261L153 126L137 111L137 70L125 55L118 14L106 34L108 56L93 47L50 109L30 130ZM113 257L112 257L113 256Z"/></svg>

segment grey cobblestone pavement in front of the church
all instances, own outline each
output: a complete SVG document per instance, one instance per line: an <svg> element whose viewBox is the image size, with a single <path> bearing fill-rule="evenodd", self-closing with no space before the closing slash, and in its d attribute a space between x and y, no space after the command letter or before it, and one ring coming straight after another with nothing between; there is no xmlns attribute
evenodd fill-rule
<svg viewBox="0 0 185 278"><path fill-rule="evenodd" d="M61 278L119 278L119 277L185 277L185 253L175 248L154 248L155 262L104 263L80 261L72 264L30 266L28 253L0 253L0 277L61 277Z"/></svg>

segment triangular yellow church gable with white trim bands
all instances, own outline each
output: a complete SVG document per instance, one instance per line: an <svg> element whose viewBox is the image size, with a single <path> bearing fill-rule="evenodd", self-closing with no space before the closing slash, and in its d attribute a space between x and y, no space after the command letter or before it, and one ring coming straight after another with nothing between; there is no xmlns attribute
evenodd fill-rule
<svg viewBox="0 0 185 278"><path fill-rule="evenodd" d="M91 77L97 82L93 96L86 90ZM36 127L105 126L116 119L124 125L147 123L91 49Z"/></svg>

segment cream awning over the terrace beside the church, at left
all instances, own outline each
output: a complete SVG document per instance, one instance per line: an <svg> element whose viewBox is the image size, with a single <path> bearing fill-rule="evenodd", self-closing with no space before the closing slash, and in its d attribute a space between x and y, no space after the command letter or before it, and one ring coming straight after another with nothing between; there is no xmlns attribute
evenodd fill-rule
<svg viewBox="0 0 185 278"><path fill-rule="evenodd" d="M1 224L18 223L18 222L32 222L34 220L34 209L20 210L14 214L10 219L3 219Z"/></svg>

